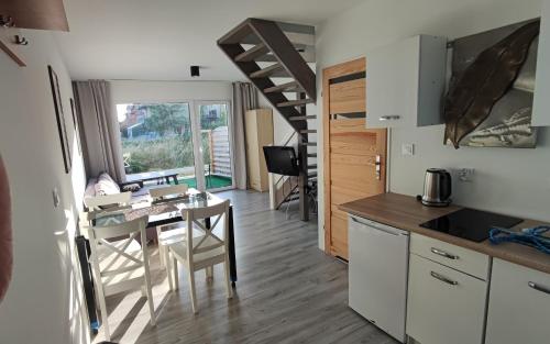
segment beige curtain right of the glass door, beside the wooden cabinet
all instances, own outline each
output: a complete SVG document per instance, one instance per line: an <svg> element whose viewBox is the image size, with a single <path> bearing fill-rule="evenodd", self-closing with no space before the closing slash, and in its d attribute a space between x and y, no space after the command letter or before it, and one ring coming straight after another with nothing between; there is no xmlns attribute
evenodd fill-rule
<svg viewBox="0 0 550 344"><path fill-rule="evenodd" d="M257 91L250 82L233 82L233 164L235 187L246 189L246 148L244 112L257 108Z"/></svg>

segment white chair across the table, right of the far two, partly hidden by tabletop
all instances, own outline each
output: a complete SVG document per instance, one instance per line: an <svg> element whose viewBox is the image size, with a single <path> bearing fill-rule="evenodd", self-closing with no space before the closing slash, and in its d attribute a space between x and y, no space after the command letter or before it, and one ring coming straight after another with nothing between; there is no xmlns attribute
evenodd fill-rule
<svg viewBox="0 0 550 344"><path fill-rule="evenodd" d="M151 199L153 201L162 200L166 196L180 197L185 196L188 190L186 184L154 188L148 190ZM161 256L161 265L166 267L166 273L168 275L168 284L172 287L172 274L169 268L169 257L167 245L172 243L177 243L185 240L185 222L177 222L156 226L156 236L158 238L158 253Z"/></svg>

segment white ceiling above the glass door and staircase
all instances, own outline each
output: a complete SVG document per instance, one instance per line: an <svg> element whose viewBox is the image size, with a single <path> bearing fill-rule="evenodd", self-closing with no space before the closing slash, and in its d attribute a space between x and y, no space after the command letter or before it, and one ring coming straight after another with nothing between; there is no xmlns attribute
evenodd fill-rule
<svg viewBox="0 0 550 344"><path fill-rule="evenodd" d="M238 80L216 41L246 18L319 24L364 0L65 0L56 33L74 79ZM195 78L196 80L197 78Z"/></svg>

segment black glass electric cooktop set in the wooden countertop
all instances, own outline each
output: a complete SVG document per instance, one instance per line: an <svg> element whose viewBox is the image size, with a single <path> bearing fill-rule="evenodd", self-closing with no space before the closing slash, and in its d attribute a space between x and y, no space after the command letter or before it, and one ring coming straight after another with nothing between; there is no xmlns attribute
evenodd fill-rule
<svg viewBox="0 0 550 344"><path fill-rule="evenodd" d="M420 226L480 243L488 238L488 232L493 226L510 229L522 221L517 218L464 208L421 223Z"/></svg>

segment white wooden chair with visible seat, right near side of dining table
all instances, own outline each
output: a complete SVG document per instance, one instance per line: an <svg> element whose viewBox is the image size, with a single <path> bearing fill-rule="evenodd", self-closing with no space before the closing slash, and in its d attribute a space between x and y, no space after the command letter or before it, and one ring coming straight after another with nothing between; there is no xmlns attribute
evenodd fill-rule
<svg viewBox="0 0 550 344"><path fill-rule="evenodd" d="M194 235L195 230L186 231L186 240L169 244L173 256L176 289L178 288L177 263L179 262L188 271L189 290L191 296L193 312L197 313L197 296L195 289L195 271L206 269L207 276L212 274L216 264L223 264L226 274L226 290L228 299L233 297L229 280L229 200L212 207L183 209L182 218L187 220L187 228L202 231L202 235ZM200 220L210 219L208 229ZM223 240L213 233L222 224Z"/></svg>

